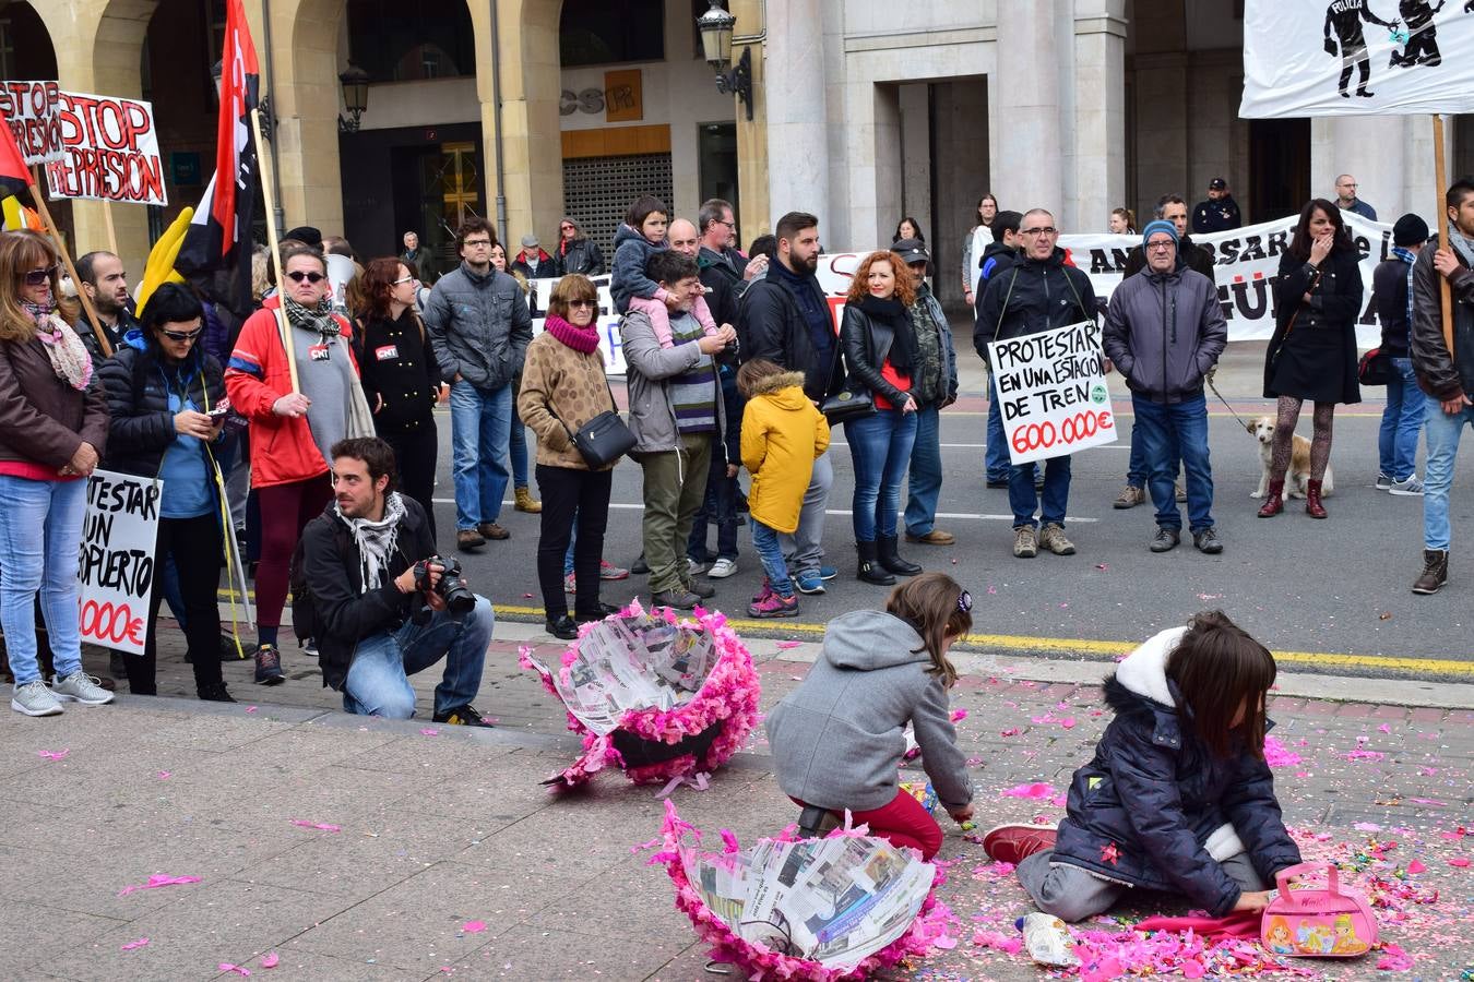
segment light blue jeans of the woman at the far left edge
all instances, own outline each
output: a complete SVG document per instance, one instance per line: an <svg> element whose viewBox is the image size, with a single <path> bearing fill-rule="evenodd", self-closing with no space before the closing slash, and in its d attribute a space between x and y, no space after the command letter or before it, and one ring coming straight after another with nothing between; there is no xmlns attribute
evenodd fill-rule
<svg viewBox="0 0 1474 982"><path fill-rule="evenodd" d="M32 481L0 474L0 626L16 685L35 682L35 595L56 674L83 667L77 562L87 481ZM136 611L147 617L147 611Z"/></svg>

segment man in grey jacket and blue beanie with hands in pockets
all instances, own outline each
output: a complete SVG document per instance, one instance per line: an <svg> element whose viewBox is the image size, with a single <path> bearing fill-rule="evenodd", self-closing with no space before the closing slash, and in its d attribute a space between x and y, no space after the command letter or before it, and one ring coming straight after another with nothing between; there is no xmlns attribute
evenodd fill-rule
<svg viewBox="0 0 1474 982"><path fill-rule="evenodd" d="M1103 346L1131 389L1135 439L1142 442L1157 506L1153 552L1182 539L1173 478L1181 459L1188 483L1188 527L1200 552L1223 551L1213 530L1213 473L1207 452L1203 380L1228 343L1218 287L1178 261L1178 230L1157 219L1142 233L1147 268L1126 277L1110 300Z"/></svg>

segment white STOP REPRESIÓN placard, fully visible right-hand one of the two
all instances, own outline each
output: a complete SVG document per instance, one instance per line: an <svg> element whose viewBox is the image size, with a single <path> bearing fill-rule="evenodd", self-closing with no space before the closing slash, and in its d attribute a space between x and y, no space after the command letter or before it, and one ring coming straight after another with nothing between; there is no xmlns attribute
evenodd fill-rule
<svg viewBox="0 0 1474 982"><path fill-rule="evenodd" d="M62 93L60 156L46 165L52 200L85 197L168 205L153 106L140 99Z"/></svg>

